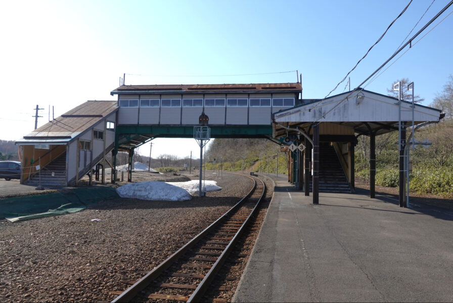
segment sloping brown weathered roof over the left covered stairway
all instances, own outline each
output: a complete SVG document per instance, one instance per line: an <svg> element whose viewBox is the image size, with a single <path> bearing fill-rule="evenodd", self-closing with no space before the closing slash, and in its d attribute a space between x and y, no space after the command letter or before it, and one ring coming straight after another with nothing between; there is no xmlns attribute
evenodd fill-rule
<svg viewBox="0 0 453 303"><path fill-rule="evenodd" d="M118 110L116 101L87 101L24 136L24 139L71 139Z"/></svg>

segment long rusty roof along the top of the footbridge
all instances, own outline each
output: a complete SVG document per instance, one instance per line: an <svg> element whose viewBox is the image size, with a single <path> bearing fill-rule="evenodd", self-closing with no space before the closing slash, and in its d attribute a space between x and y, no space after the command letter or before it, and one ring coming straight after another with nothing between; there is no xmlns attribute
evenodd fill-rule
<svg viewBox="0 0 453 303"><path fill-rule="evenodd" d="M194 92L262 92L285 91L299 92L301 83L250 83L250 84L180 84L180 85L121 85L110 94L124 92L160 92L160 93L194 93Z"/></svg>

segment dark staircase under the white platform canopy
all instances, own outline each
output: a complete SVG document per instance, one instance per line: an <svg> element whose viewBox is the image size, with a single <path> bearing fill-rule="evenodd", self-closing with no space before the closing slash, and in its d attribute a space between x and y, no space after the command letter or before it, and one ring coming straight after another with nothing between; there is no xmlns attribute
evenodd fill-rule
<svg viewBox="0 0 453 303"><path fill-rule="evenodd" d="M327 142L320 143L320 192L351 192L337 153ZM310 178L310 191L313 190Z"/></svg>

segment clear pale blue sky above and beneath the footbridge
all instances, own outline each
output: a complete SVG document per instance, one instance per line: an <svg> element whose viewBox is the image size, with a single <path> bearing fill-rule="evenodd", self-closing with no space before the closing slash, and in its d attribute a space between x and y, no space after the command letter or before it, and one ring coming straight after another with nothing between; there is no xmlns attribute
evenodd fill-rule
<svg viewBox="0 0 453 303"><path fill-rule="evenodd" d="M431 2L413 1L351 73L351 87L394 53ZM126 84L267 83L295 82L296 73L212 75L298 70L303 97L324 97L407 3L4 2L0 12L0 139L19 139L32 131L36 104L46 109L40 111L44 117L38 125L42 125L48 119L49 105L59 116L85 100L114 99L110 91L123 73L151 75L126 75ZM436 0L411 36L447 3ZM434 24L452 11L450 7ZM453 73L452 15L366 89L386 94L392 82L407 77L415 81L416 94L425 98L423 104L429 105ZM333 94L341 93L345 85ZM190 150L198 155L197 149L191 139L156 139L152 156L185 157ZM149 144L140 153L149 155Z"/></svg>

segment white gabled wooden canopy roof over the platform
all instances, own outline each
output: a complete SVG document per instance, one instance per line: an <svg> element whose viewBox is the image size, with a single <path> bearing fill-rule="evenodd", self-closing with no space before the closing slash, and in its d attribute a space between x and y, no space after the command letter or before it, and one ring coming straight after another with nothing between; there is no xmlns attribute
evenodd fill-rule
<svg viewBox="0 0 453 303"><path fill-rule="evenodd" d="M401 102L400 115L401 121L412 125L411 102ZM274 137L280 137L288 133L287 127L306 129L313 122L330 122L358 134L380 135L398 130L398 117L397 98L359 88L275 113L273 132ZM438 122L442 117L438 109L415 104L414 124Z"/></svg>

